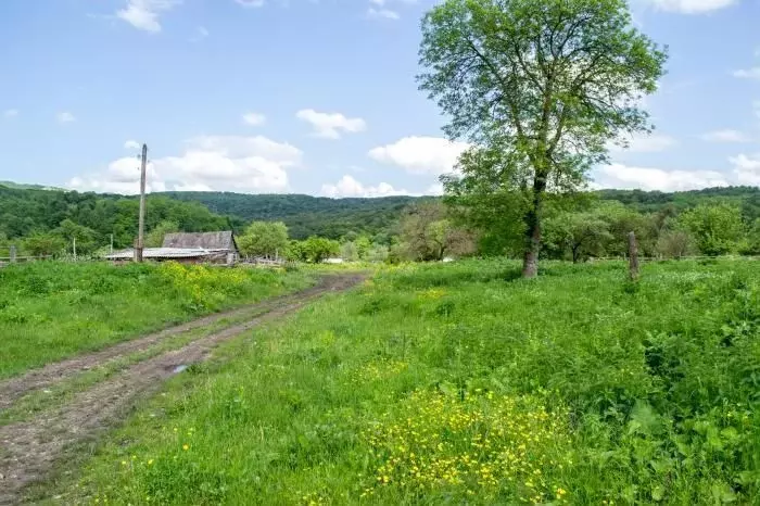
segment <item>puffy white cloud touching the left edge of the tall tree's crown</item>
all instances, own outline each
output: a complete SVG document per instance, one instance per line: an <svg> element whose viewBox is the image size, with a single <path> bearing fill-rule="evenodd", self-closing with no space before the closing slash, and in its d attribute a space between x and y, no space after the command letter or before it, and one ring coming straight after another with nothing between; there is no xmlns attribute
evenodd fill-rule
<svg viewBox="0 0 760 506"><path fill-rule="evenodd" d="M369 151L378 162L397 165L413 174L440 175L454 170L466 142L451 142L441 137L404 137L396 142Z"/></svg>

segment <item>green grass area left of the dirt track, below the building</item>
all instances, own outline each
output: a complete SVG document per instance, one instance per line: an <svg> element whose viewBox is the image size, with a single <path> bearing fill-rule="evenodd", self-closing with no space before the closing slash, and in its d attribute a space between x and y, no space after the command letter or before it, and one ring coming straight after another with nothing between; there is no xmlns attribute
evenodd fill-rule
<svg viewBox="0 0 760 506"><path fill-rule="evenodd" d="M304 273L40 262L0 269L0 378L308 286Z"/></svg>

